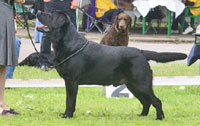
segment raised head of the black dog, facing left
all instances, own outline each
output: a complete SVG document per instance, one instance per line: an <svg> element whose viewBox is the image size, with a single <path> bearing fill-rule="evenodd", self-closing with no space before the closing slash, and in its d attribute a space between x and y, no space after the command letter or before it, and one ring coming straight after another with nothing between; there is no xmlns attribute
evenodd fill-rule
<svg viewBox="0 0 200 126"><path fill-rule="evenodd" d="M46 25L50 29L50 31L70 23L69 16L63 11L55 11L52 13L40 11L37 13L37 17L42 24Z"/></svg>

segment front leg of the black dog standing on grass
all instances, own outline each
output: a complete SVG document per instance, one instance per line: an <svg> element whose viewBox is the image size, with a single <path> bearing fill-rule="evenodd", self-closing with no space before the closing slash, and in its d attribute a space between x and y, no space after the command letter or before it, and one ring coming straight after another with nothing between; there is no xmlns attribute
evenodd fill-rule
<svg viewBox="0 0 200 126"><path fill-rule="evenodd" d="M75 112L78 85L73 84L72 82L68 83L65 81L65 88L66 88L66 110L65 113L63 114L63 118L71 118L73 117L73 113Z"/></svg>

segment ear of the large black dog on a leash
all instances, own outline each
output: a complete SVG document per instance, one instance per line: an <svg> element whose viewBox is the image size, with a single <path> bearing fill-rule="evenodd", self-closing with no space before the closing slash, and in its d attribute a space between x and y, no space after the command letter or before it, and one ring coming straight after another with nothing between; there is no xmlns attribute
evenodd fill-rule
<svg viewBox="0 0 200 126"><path fill-rule="evenodd" d="M52 28L60 28L69 22L69 17L65 12L57 11L52 16Z"/></svg>

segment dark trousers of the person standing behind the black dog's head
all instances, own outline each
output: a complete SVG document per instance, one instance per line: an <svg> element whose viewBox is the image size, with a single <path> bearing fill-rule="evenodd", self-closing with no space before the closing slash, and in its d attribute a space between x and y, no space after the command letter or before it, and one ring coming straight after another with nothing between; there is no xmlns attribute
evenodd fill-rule
<svg viewBox="0 0 200 126"><path fill-rule="evenodd" d="M52 9L52 6L49 6L50 4L45 3L45 12L52 12L55 11L56 9ZM74 24L76 27L76 11L72 9L63 9L66 11L66 13L69 15L71 22ZM41 65L50 65L50 53L51 53L51 40L50 40L50 33L44 33L42 37L42 42L40 45L40 55L41 55Z"/></svg>

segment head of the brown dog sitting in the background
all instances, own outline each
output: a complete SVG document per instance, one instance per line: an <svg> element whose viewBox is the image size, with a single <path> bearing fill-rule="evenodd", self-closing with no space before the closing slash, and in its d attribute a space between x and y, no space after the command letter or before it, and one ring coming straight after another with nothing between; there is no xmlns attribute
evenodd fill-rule
<svg viewBox="0 0 200 126"><path fill-rule="evenodd" d="M120 13L114 21L116 30L119 32L127 32L132 24L132 19L127 13Z"/></svg>

